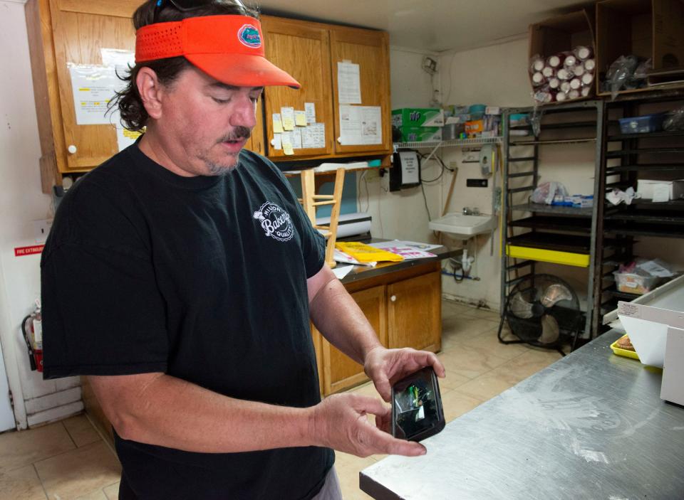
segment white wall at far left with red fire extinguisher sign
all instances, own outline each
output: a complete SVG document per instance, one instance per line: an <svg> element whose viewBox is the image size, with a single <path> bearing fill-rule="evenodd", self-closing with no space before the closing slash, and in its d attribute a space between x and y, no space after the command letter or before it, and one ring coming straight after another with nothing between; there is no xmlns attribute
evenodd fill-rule
<svg viewBox="0 0 684 500"><path fill-rule="evenodd" d="M40 255L15 257L14 248L35 245L32 221L53 215L51 198L41 191L24 4L0 0L0 47L0 342L16 421L26 427L83 406L78 378L43 381L31 372L21 337L21 319L40 297Z"/></svg>

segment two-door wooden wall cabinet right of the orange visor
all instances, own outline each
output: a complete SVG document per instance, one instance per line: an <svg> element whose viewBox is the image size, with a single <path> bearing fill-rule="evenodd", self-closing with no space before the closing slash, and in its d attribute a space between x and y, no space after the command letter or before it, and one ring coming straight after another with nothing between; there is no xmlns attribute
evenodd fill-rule
<svg viewBox="0 0 684 500"><path fill-rule="evenodd" d="M389 36L384 31L347 28L295 19L263 16L266 58L290 73L301 89L268 87L264 92L264 130L267 154L274 161L325 159L343 156L388 155L392 151L390 110ZM382 144L343 146L338 99L338 62L359 65L363 106L380 107ZM295 149L287 156L274 149L272 116L281 107L304 110L305 102L316 107L316 122L325 124L325 145L316 149Z"/></svg>

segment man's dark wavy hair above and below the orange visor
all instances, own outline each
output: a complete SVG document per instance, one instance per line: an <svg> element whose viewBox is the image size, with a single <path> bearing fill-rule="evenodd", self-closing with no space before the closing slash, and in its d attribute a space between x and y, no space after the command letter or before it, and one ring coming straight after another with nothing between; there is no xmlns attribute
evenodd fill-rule
<svg viewBox="0 0 684 500"><path fill-rule="evenodd" d="M147 0L133 14L133 28L137 31L142 26L147 26L154 22L155 6L157 0ZM180 11L170 1L166 1L164 6L157 13L157 23L169 21L182 21L189 17L199 16L221 16L221 15L242 15L259 18L256 10L250 9L239 0L212 0L206 4L198 6L197 9L190 11ZM147 124L147 110L142 105L138 85L135 79L138 77L140 68L150 68L157 73L162 85L172 85L180 73L190 68L192 64L182 55L175 58L157 59L147 63L140 63L130 68L128 75L119 75L119 78L126 82L126 87L109 102L109 110L119 108L121 122L129 130L142 131Z"/></svg>

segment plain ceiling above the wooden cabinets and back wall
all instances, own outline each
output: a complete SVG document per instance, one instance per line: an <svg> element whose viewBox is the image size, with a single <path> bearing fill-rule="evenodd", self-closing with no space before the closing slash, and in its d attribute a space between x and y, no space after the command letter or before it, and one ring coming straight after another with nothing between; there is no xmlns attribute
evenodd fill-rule
<svg viewBox="0 0 684 500"><path fill-rule="evenodd" d="M467 50L527 33L530 23L576 10L576 0L246 0L264 14L378 28L390 44ZM586 3L586 2L585 2Z"/></svg>

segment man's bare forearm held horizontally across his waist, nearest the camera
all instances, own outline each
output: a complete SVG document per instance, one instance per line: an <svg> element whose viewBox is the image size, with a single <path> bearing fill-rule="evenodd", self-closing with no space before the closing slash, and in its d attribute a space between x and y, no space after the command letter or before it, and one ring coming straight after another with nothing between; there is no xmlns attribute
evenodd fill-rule
<svg viewBox="0 0 684 500"><path fill-rule="evenodd" d="M138 391L120 377L89 379L105 415L127 440L205 453L315 445L311 408L228 398L162 374Z"/></svg>

